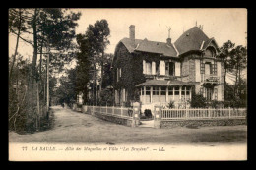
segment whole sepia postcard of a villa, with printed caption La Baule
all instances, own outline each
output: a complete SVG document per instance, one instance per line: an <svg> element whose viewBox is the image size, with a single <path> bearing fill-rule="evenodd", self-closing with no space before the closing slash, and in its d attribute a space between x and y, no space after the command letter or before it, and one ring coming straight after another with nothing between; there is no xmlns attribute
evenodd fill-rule
<svg viewBox="0 0 256 170"><path fill-rule="evenodd" d="M247 9L9 8L9 161L247 160Z"/></svg>

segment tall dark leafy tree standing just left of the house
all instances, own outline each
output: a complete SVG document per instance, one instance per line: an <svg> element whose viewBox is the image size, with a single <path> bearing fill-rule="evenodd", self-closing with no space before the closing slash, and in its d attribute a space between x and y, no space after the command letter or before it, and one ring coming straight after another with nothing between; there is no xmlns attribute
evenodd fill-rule
<svg viewBox="0 0 256 170"><path fill-rule="evenodd" d="M77 44L79 52L77 85L78 90L83 92L84 103L96 101L97 82L99 83L99 98L104 97L101 94L102 86L106 88L111 85L111 60L112 54L105 54L104 50L109 44L108 36L110 29L106 20L96 21L94 25L89 25L85 34L77 35ZM101 76L98 79L98 67L100 67ZM87 98L90 90L93 90L92 98ZM105 93L104 91L103 93ZM103 99L102 103L107 100ZM100 104L101 101L96 101Z"/></svg>

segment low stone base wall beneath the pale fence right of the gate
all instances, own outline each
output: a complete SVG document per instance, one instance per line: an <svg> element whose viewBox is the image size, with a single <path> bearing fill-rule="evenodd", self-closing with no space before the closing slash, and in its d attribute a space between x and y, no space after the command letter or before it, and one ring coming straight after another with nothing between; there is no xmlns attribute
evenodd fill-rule
<svg viewBox="0 0 256 170"><path fill-rule="evenodd" d="M175 127L211 127L211 126L235 126L247 125L246 119L215 119L215 120L178 120L178 121L160 121L160 128Z"/></svg>

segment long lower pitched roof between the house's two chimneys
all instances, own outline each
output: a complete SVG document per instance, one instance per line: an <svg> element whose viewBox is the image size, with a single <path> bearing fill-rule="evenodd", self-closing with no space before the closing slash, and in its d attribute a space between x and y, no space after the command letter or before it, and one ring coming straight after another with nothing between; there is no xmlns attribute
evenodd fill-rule
<svg viewBox="0 0 256 170"><path fill-rule="evenodd" d="M135 46L133 46L130 38L123 38L120 42L125 45L129 52L142 51L158 53L168 57L177 57L177 52L172 44L169 46L164 42L135 39Z"/></svg>

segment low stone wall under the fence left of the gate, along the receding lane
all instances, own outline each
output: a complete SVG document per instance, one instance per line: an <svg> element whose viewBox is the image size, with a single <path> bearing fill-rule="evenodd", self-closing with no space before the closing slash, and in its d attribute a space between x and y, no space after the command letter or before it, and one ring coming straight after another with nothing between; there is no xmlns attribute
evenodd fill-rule
<svg viewBox="0 0 256 170"><path fill-rule="evenodd" d="M97 118L103 119L108 122L113 122L116 124L121 124L121 125L126 125L129 127L132 127L132 118L121 118L117 116L112 116L112 115L106 115L106 114L100 114L100 113L94 113L94 116Z"/></svg>

